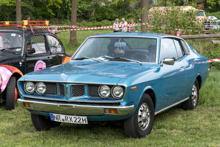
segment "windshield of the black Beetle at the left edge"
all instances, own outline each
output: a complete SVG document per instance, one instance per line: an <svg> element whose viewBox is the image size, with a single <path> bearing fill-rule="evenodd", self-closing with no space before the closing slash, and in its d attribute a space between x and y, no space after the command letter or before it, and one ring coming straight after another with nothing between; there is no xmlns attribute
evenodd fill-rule
<svg viewBox="0 0 220 147"><path fill-rule="evenodd" d="M21 49L22 49L21 34L0 32L0 51L20 54Z"/></svg>

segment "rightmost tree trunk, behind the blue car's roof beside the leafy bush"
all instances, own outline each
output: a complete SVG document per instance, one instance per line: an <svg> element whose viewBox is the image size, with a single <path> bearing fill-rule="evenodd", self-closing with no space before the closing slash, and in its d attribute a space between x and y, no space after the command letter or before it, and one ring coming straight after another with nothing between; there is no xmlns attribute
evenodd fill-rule
<svg viewBox="0 0 220 147"><path fill-rule="evenodd" d="M141 1L141 22L142 23L146 23L148 20L147 12L148 12L148 0L142 0ZM147 31L146 28L147 28L146 25L142 25L141 31L146 32Z"/></svg>

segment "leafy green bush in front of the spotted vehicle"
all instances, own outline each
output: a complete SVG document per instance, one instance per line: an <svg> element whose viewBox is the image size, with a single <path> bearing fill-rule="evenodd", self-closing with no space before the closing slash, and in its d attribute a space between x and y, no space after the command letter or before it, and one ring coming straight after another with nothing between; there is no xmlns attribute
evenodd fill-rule
<svg viewBox="0 0 220 147"><path fill-rule="evenodd" d="M196 12L183 12L177 7L167 7L164 11L164 13L161 13L158 9L155 9L149 15L149 20L151 20L149 23L154 25L153 32L175 34L176 28L183 29L182 34L198 34L202 32L202 24L196 23ZM162 28L164 24L166 26Z"/></svg>

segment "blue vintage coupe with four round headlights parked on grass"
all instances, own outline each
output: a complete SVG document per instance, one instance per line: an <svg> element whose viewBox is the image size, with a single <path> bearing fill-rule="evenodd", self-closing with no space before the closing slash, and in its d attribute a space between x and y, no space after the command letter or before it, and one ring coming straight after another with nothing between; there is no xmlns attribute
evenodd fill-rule
<svg viewBox="0 0 220 147"><path fill-rule="evenodd" d="M166 34L110 33L88 37L62 65L24 75L19 104L34 127L123 121L129 137L150 134L155 115L182 104L195 109L208 59Z"/></svg>

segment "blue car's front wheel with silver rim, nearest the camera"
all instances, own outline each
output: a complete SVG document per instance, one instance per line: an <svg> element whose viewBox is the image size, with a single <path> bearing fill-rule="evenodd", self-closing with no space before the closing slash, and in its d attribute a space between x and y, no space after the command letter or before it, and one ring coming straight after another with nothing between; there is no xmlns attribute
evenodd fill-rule
<svg viewBox="0 0 220 147"><path fill-rule="evenodd" d="M145 110L145 113L143 113L143 110ZM142 115L142 119L140 119L140 115ZM141 125L140 122L144 123L144 125ZM148 94L144 94L135 113L124 121L124 129L128 137L141 138L150 134L153 122L154 104L151 97Z"/></svg>

